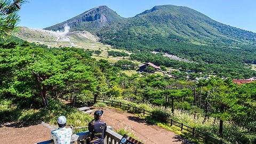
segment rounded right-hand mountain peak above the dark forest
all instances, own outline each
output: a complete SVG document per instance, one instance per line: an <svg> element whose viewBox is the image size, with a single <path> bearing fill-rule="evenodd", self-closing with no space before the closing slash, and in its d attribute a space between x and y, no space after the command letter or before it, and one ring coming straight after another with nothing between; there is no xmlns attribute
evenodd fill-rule
<svg viewBox="0 0 256 144"><path fill-rule="evenodd" d="M139 17L139 18L138 18ZM197 38L202 41L255 41L256 34L250 31L238 29L214 21L206 15L185 6L162 5L155 6L136 15L137 20L160 25L161 29L167 30L178 36Z"/></svg>

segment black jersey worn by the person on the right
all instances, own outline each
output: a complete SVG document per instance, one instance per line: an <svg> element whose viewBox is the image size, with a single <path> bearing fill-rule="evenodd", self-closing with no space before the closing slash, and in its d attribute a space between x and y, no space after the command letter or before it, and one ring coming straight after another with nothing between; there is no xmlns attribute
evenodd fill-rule
<svg viewBox="0 0 256 144"><path fill-rule="evenodd" d="M97 143L97 144L103 144L104 143L104 134L107 130L106 122L102 122L100 120L92 120L89 123L89 131L92 133L92 139L90 141L90 144Z"/></svg>

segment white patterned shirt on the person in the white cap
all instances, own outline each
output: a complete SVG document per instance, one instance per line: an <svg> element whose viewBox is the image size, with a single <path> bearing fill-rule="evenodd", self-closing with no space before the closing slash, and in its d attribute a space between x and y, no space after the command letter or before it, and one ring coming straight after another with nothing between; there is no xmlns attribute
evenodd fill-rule
<svg viewBox="0 0 256 144"><path fill-rule="evenodd" d="M65 127L53 130L51 132L51 139L55 144L69 144L71 140L72 129Z"/></svg>

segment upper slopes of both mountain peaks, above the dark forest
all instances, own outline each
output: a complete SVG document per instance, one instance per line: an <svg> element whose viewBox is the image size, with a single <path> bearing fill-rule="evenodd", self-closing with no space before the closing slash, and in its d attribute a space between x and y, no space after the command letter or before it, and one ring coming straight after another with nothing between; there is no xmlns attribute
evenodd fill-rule
<svg viewBox="0 0 256 144"><path fill-rule="evenodd" d="M155 6L132 18L122 18L107 6L98 6L45 29L63 30L65 25L70 26L71 31L88 30L98 35L106 31L129 30L135 35L161 34L197 44L256 41L255 33L224 25L188 7L174 5Z"/></svg>

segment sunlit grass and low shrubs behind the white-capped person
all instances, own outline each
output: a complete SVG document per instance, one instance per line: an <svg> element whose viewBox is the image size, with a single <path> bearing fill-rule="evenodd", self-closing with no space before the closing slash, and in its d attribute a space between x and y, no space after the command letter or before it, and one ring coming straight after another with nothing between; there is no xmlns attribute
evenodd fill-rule
<svg viewBox="0 0 256 144"><path fill-rule="evenodd" d="M17 100L0 99L0 122L17 121L44 121L57 125L57 118L61 115L67 117L67 126L87 126L93 116L84 114L75 108L66 107L58 100L49 100L49 109L45 108L22 108L18 107Z"/></svg>

